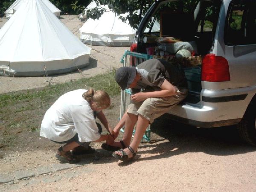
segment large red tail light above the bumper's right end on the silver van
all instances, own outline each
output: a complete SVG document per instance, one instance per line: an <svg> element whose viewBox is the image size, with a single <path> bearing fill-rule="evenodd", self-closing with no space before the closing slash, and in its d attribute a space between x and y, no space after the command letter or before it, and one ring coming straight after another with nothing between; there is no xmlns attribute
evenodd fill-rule
<svg viewBox="0 0 256 192"><path fill-rule="evenodd" d="M227 59L215 54L207 54L202 61L202 81L221 82L230 81Z"/></svg>

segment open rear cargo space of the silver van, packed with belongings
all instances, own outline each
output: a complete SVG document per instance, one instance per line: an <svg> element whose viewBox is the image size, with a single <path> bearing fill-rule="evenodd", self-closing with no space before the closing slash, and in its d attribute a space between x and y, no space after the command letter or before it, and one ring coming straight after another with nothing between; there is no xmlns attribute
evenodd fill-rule
<svg viewBox="0 0 256 192"><path fill-rule="evenodd" d="M138 27L137 52L183 67L189 85L184 102L200 101L202 58L212 49L220 7L220 0L159 0Z"/></svg>

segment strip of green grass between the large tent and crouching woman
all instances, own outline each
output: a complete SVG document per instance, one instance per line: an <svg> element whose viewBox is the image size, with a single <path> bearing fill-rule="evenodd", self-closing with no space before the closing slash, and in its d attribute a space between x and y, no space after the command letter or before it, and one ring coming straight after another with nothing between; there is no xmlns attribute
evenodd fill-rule
<svg viewBox="0 0 256 192"><path fill-rule="evenodd" d="M56 99L65 92L81 88L93 87L94 89L102 89L110 95L119 93L119 86L114 79L114 70L87 79L70 81L64 84L48 85L47 87L35 90L16 91L0 95L0 109L9 105L15 105L18 102L30 103L33 99L40 98L42 102L47 102L50 99ZM29 109L29 106L26 106ZM20 111L26 110L20 108Z"/></svg>

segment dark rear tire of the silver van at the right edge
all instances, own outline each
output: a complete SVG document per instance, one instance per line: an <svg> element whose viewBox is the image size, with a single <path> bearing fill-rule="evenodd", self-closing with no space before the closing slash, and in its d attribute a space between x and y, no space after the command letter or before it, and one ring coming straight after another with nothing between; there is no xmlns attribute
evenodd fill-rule
<svg viewBox="0 0 256 192"><path fill-rule="evenodd" d="M256 99L248 106L237 128L240 137L250 145L256 146Z"/></svg>

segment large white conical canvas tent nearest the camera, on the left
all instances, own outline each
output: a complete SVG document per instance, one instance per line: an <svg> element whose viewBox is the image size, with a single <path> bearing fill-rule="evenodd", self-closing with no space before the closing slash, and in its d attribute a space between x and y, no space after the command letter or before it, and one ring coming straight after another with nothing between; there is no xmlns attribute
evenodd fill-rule
<svg viewBox="0 0 256 192"><path fill-rule="evenodd" d="M42 0L24 0L0 29L0 75L44 76L89 64L84 45Z"/></svg>

